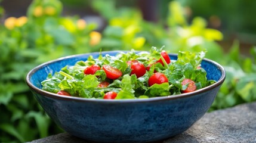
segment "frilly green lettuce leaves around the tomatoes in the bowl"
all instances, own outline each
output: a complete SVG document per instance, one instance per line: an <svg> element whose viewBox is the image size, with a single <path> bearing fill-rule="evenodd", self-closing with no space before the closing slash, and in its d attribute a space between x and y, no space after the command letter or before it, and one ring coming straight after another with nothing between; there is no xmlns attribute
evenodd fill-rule
<svg viewBox="0 0 256 143"><path fill-rule="evenodd" d="M156 63L156 59L164 58L161 56L161 49L153 47L150 52L135 52L131 50L127 53L120 52L116 56L101 54L99 58L88 57L87 61L78 61L74 66L65 66L61 71L49 74L47 79L42 82L42 89L45 91L57 93L60 90L69 92L70 95L82 98L103 98L104 93L109 91L117 92L115 99L135 99L148 97L161 97L168 95L181 94L181 90L187 85L182 86L183 79L191 79L196 83L197 89L214 83L214 80L206 78L206 71L201 66L201 61L205 56L205 51L178 52L177 60L172 60L164 66ZM127 61L137 60L143 63L145 67L151 66L144 76L136 77L130 75L131 67ZM97 70L95 74L84 74L84 69L92 64L98 64L100 67L109 64L122 71L122 76L118 79L107 79L104 70ZM149 77L154 72L161 72L166 75L168 82L162 84L148 85ZM98 88L98 83L107 81L110 83L106 88Z"/></svg>

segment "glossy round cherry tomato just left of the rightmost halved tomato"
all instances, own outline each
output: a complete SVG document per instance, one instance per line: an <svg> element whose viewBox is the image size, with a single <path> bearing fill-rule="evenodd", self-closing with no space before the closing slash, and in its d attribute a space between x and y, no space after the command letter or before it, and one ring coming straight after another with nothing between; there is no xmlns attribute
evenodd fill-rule
<svg viewBox="0 0 256 143"><path fill-rule="evenodd" d="M167 77L164 73L154 73L149 77L149 86L156 84L162 84L164 82L168 82Z"/></svg>

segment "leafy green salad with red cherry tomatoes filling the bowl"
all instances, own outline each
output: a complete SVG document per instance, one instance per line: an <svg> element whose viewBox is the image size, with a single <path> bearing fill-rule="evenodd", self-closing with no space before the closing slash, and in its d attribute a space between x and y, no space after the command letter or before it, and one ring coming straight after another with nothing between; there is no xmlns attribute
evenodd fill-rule
<svg viewBox="0 0 256 143"><path fill-rule="evenodd" d="M178 52L171 60L155 47L149 52L100 54L48 74L42 89L58 95L97 99L138 99L193 92L214 83L201 67L202 52Z"/></svg>

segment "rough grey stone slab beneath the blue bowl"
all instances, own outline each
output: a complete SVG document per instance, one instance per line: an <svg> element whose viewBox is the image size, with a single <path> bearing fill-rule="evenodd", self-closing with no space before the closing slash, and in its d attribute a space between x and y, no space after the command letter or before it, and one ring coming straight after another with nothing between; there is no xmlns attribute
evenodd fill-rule
<svg viewBox="0 0 256 143"><path fill-rule="evenodd" d="M60 133L31 143L41 142L84 143L87 141L69 133ZM186 132L159 142L256 142L256 102L206 113Z"/></svg>

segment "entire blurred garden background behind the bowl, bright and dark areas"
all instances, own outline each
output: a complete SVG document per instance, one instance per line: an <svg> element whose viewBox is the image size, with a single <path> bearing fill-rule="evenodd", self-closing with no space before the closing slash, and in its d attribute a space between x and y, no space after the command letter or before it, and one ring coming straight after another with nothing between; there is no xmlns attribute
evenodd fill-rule
<svg viewBox="0 0 256 143"><path fill-rule="evenodd" d="M202 51L227 77L209 111L256 101L256 1L0 0L0 142L63 132L29 91L45 61L109 50Z"/></svg>

